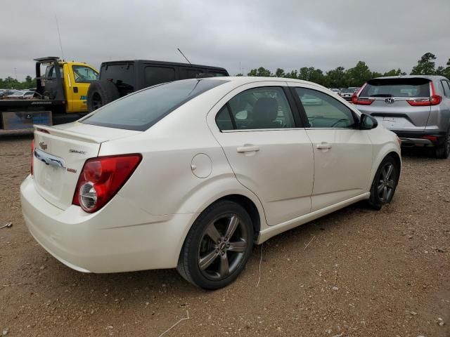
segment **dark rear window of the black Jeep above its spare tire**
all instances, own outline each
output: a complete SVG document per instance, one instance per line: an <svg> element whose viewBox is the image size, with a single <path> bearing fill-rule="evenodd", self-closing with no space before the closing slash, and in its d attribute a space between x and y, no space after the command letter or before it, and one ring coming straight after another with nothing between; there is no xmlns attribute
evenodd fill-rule
<svg viewBox="0 0 450 337"><path fill-rule="evenodd" d="M131 93L134 91L134 65L131 63L102 65L101 79L113 81L122 93Z"/></svg>

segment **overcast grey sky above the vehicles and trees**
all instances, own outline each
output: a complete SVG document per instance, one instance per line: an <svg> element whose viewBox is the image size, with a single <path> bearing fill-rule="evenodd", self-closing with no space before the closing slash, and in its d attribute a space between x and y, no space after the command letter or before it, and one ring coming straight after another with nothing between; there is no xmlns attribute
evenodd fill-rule
<svg viewBox="0 0 450 337"><path fill-rule="evenodd" d="M308 2L308 3L307 3ZM330 70L364 60L409 72L425 52L450 58L450 0L1 0L0 78L34 77L33 58L124 59L225 67L245 74Z"/></svg>

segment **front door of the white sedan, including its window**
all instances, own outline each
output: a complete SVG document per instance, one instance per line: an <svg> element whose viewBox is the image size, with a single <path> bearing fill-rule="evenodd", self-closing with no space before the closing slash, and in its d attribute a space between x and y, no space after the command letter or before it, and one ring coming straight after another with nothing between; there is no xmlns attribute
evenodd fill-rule
<svg viewBox="0 0 450 337"><path fill-rule="evenodd" d="M289 85L314 149L311 211L367 192L373 146L357 114L318 87Z"/></svg>

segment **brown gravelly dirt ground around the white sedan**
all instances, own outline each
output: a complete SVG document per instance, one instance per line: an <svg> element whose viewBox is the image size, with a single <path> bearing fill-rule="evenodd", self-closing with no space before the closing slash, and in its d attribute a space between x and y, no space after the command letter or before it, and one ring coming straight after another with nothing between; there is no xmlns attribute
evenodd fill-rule
<svg viewBox="0 0 450 337"><path fill-rule="evenodd" d="M164 336L450 336L450 163L403 160L382 211L356 204L280 234L231 286L203 291L175 270L59 263L20 213L30 138L0 139L0 225L13 222L0 230L0 336L160 336L187 313Z"/></svg>

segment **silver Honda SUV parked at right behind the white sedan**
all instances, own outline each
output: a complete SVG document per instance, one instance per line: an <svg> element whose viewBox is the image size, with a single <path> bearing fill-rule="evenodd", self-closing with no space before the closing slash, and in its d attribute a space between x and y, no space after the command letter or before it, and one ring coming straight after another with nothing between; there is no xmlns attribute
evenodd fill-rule
<svg viewBox="0 0 450 337"><path fill-rule="evenodd" d="M358 110L397 133L403 146L435 147L450 154L450 81L442 76L378 77L352 97Z"/></svg>

